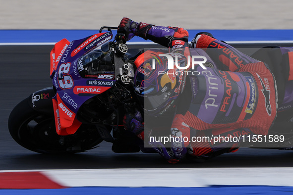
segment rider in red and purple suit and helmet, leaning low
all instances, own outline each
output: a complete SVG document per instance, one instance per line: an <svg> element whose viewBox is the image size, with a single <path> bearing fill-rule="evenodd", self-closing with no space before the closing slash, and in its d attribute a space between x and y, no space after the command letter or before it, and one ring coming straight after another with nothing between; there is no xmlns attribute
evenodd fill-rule
<svg viewBox="0 0 293 195"><path fill-rule="evenodd" d="M224 139L222 142L197 139L196 142L191 140L192 136L215 139L268 134L276 118L278 98L275 78L264 62L243 54L209 33L198 33L189 48L185 29L137 23L129 18L121 20L117 36L125 42L139 36L168 47L171 53L177 54L181 67L193 60L192 55L207 58L204 66L197 64L193 70L190 66L186 69L189 72L176 69L176 66L173 70L168 69L167 56L160 56L163 53L160 50L153 50L153 55L145 52L135 61L135 92L143 99L145 116L154 120L172 116L171 135L187 138L173 140L170 148L162 142L149 142L170 163L178 162L186 153L211 157L234 151L239 146L239 141L225 142ZM156 64L161 69L150 68L154 61L150 56L154 55L161 57L163 66ZM158 69L163 74L158 74ZM188 74L192 71L197 74ZM144 139L142 121L131 113L124 119L125 129Z"/></svg>

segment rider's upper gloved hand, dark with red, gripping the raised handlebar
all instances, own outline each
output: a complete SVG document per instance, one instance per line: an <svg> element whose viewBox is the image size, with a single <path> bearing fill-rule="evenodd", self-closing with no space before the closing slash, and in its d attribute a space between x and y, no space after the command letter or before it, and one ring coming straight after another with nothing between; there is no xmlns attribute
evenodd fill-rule
<svg viewBox="0 0 293 195"><path fill-rule="evenodd" d="M129 18L122 18L118 29L117 29L117 36L125 43L126 41L130 40L132 37L135 36L135 29L137 23L130 20ZM124 35L124 36L123 36Z"/></svg>

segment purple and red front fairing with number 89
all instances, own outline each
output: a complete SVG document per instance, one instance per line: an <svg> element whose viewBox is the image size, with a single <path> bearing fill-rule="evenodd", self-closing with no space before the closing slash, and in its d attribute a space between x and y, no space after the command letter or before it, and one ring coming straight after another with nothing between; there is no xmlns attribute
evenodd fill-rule
<svg viewBox="0 0 293 195"><path fill-rule="evenodd" d="M76 119L76 113L80 106L86 100L114 86L116 82L114 76L113 79L83 78L79 73L81 56L110 41L112 37L112 33L107 32L70 43L63 39L52 49L51 78L56 89L53 105L56 129L59 135L74 134L81 125L81 122ZM56 57L56 53L59 54L58 57ZM115 73L108 74L114 75Z"/></svg>

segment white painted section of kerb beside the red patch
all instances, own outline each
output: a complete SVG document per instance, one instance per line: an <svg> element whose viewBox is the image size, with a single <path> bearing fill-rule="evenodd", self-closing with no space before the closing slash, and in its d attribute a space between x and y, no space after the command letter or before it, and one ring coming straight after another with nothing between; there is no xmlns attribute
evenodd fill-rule
<svg viewBox="0 0 293 195"><path fill-rule="evenodd" d="M65 187L293 186L293 168L287 167L20 170L31 171L42 172Z"/></svg>

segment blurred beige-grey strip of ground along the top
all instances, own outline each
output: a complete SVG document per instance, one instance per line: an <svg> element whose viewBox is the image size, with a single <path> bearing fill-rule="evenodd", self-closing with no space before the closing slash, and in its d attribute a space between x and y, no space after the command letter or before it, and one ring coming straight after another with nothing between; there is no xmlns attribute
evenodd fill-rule
<svg viewBox="0 0 293 195"><path fill-rule="evenodd" d="M292 29L292 0L0 0L0 29L99 29L122 17L186 29Z"/></svg>

